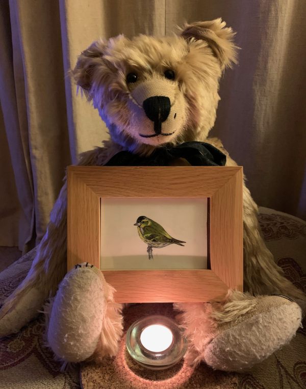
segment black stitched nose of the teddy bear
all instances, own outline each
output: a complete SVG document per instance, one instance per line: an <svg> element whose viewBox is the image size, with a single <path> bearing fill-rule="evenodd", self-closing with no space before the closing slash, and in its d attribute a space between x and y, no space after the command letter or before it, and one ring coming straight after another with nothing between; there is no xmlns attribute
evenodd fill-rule
<svg viewBox="0 0 306 389"><path fill-rule="evenodd" d="M167 119L171 109L169 97L149 97L144 100L142 106L146 116L154 122L154 131L161 133L161 123Z"/></svg>

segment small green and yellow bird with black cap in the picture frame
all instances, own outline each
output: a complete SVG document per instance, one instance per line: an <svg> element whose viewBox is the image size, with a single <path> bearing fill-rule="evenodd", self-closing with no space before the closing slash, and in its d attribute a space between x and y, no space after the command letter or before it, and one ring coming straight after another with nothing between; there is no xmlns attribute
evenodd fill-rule
<svg viewBox="0 0 306 389"><path fill-rule="evenodd" d="M148 245L149 259L153 259L153 248L162 248L173 243L184 246L182 243L186 243L183 240L172 238L160 224L146 216L139 216L134 226L137 226L140 239Z"/></svg>

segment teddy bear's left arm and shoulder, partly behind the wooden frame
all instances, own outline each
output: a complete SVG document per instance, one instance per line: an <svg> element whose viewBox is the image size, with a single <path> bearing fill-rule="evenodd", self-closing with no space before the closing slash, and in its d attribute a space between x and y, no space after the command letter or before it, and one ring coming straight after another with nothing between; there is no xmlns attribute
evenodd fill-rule
<svg viewBox="0 0 306 389"><path fill-rule="evenodd" d="M83 153L80 165L103 165L120 146L111 141L105 147ZM43 301L54 296L66 272L67 239L67 183L50 213L50 221L33 260L31 269L23 282L4 301L0 310L0 336L18 330L37 316Z"/></svg>

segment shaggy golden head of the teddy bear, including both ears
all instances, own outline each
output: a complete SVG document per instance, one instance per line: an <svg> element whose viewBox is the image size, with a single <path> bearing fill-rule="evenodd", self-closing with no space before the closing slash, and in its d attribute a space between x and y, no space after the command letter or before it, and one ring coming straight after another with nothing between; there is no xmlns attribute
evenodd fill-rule
<svg viewBox="0 0 306 389"><path fill-rule="evenodd" d="M112 140L145 153L203 141L216 118L219 79L236 62L234 33L216 19L185 24L178 35L93 42L72 71Z"/></svg>

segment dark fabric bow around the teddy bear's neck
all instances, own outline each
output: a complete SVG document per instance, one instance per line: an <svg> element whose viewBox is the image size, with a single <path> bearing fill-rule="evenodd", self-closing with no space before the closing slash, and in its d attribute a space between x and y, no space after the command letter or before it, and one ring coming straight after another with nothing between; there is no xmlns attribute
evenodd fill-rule
<svg viewBox="0 0 306 389"><path fill-rule="evenodd" d="M158 147L149 156L120 151L106 166L167 166L173 159L185 158L193 166L224 166L226 156L205 142L185 142L175 147Z"/></svg>

